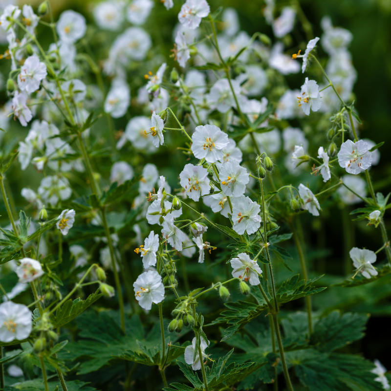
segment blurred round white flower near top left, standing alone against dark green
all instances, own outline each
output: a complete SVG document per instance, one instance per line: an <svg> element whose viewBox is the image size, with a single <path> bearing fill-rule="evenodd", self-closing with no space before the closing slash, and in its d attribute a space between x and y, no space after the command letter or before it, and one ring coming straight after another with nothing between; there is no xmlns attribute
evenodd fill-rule
<svg viewBox="0 0 391 391"><path fill-rule="evenodd" d="M61 41L74 43L86 34L86 19L75 11L64 11L56 24L56 30Z"/></svg>

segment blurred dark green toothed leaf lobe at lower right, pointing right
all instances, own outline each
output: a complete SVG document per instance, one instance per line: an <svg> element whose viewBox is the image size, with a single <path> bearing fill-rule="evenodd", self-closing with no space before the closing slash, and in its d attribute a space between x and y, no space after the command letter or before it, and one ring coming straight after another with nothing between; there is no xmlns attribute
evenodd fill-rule
<svg viewBox="0 0 391 391"><path fill-rule="evenodd" d="M323 352L342 348L364 337L369 315L333 311L320 319L311 335L311 344Z"/></svg>

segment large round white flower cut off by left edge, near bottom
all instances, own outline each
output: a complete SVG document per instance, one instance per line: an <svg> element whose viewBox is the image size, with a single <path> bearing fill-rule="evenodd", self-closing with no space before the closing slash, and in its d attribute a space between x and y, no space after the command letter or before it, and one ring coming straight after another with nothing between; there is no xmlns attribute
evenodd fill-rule
<svg viewBox="0 0 391 391"><path fill-rule="evenodd" d="M31 315L26 305L12 302L0 304L0 341L26 339L32 329Z"/></svg>

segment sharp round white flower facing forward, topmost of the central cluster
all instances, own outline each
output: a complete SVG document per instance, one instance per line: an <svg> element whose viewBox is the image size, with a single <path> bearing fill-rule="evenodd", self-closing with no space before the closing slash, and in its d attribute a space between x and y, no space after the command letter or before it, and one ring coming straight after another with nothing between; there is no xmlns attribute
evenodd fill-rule
<svg viewBox="0 0 391 391"><path fill-rule="evenodd" d="M197 159L205 158L208 163L221 160L222 150L228 145L228 135L215 125L197 126L192 139L194 156Z"/></svg>

